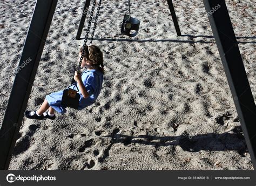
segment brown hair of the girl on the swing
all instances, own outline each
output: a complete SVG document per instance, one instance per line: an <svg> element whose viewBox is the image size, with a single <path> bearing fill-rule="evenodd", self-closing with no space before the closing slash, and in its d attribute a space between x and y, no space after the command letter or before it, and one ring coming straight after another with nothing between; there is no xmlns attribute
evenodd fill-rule
<svg viewBox="0 0 256 186"><path fill-rule="evenodd" d="M79 52L83 52L83 46ZM99 71L104 74L103 53L99 47L95 45L85 46L84 58L89 61L91 66L98 67Z"/></svg>

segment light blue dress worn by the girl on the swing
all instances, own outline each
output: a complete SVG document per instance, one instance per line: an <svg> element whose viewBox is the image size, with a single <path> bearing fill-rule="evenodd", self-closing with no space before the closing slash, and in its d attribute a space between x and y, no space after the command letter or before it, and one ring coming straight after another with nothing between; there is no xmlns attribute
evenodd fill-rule
<svg viewBox="0 0 256 186"><path fill-rule="evenodd" d="M81 77L83 84L85 85L86 91L90 96L85 99L79 89L79 91L77 92L78 94L80 94L78 110L92 105L96 101L100 90L102 89L103 82L103 73L100 72L98 69L85 70L81 74ZM75 85L70 86L70 88L77 89ZM66 113L66 106L61 105L62 95L63 91L53 92L49 95L46 95L46 100L49 106L55 109L55 111L64 114Z"/></svg>

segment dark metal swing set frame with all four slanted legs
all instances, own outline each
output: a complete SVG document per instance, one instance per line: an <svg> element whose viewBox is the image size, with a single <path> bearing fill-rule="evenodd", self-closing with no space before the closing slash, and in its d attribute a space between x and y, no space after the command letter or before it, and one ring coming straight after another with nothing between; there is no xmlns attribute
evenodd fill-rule
<svg viewBox="0 0 256 186"><path fill-rule="evenodd" d="M8 169L18 139L19 129L29 95L35 80L39 61L42 56L45 40L48 35L58 0L37 0L31 19L28 34L19 65L31 58L16 73L12 86L9 102L5 111L2 128L0 130L0 169ZM167 0L176 27L177 35L181 36L177 17L171 0ZM247 79L244 64L242 62L237 39L228 15L225 0L203 0L206 12L211 12L212 7L220 4L220 8L208 16L215 42L218 47L221 61L224 66L228 84L231 89L235 108L244 132L248 151L256 169L256 109L250 84ZM89 7L90 0L86 0L85 8ZM80 20L77 39L82 33L86 15Z"/></svg>

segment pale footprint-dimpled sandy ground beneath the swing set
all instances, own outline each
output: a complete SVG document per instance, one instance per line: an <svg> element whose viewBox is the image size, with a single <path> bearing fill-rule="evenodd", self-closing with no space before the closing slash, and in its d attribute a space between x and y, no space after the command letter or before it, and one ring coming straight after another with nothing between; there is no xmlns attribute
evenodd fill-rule
<svg viewBox="0 0 256 186"><path fill-rule="evenodd" d="M29 109L69 85L83 44L75 40L83 2L58 2ZM2 123L35 1L0 3ZM255 93L254 5L227 1ZM55 121L24 119L10 169L253 170L203 2L174 6L183 37L167 2L132 1L141 24L128 38L119 33L125 3L103 1L93 42L106 67L97 102Z"/></svg>

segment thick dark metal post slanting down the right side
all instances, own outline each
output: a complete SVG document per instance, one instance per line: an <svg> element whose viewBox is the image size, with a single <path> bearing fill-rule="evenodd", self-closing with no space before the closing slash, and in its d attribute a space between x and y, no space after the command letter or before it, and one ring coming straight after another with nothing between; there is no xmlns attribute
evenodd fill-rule
<svg viewBox="0 0 256 186"><path fill-rule="evenodd" d="M225 0L204 0L247 148L256 169L256 108Z"/></svg>

